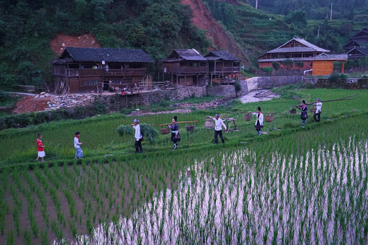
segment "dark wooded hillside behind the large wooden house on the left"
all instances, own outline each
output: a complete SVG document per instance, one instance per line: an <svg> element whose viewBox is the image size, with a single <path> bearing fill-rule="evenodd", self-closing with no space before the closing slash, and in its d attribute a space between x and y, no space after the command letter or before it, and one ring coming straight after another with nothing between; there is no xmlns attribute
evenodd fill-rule
<svg viewBox="0 0 368 245"><path fill-rule="evenodd" d="M102 47L144 49L153 59L178 47L203 52L211 44L191 13L178 0L1 1L0 86L52 80L50 40L57 33L92 33Z"/></svg>

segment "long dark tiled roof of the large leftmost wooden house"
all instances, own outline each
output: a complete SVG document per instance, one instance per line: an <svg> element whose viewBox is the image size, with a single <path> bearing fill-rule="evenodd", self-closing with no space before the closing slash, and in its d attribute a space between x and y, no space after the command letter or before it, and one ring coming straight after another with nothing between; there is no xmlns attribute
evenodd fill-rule
<svg viewBox="0 0 368 245"><path fill-rule="evenodd" d="M154 62L142 49L66 47L59 59L74 61Z"/></svg>

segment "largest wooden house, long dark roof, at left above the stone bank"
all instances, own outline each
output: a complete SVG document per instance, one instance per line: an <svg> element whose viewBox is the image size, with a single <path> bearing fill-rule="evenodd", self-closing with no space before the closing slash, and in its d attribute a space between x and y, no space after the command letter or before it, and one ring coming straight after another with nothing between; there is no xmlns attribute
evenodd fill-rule
<svg viewBox="0 0 368 245"><path fill-rule="evenodd" d="M132 88L152 62L142 49L66 47L52 61L55 93Z"/></svg>

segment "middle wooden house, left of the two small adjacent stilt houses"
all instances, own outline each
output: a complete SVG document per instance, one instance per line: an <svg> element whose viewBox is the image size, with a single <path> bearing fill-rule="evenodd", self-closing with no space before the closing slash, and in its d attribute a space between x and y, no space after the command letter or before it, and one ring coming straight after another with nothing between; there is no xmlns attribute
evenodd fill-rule
<svg viewBox="0 0 368 245"><path fill-rule="evenodd" d="M200 85L207 82L207 59L195 49L174 49L162 59L163 73L176 85Z"/></svg>

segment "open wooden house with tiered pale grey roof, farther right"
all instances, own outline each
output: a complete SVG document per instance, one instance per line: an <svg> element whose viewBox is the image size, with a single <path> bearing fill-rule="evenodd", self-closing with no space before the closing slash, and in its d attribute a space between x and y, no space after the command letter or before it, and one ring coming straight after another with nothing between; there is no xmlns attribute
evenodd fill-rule
<svg viewBox="0 0 368 245"><path fill-rule="evenodd" d="M304 63L304 66L293 66L293 69L310 69L312 68L311 59L318 54L328 52L330 51L317 47L302 38L294 37L280 47L259 56L258 67L272 67L272 62L277 62L280 64L280 68L283 68L282 61L285 59L292 59L294 62L299 61Z"/></svg>

